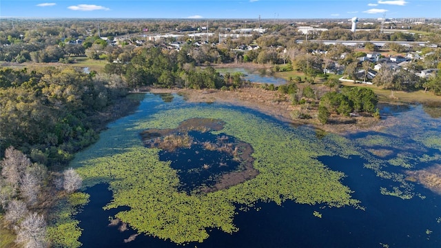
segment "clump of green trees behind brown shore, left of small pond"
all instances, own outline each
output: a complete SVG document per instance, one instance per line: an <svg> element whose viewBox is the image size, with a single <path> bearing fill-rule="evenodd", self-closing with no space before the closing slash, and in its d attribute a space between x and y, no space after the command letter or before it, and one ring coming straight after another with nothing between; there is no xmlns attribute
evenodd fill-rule
<svg viewBox="0 0 441 248"><path fill-rule="evenodd" d="M212 67L196 67L195 59L185 49L170 51L151 47L136 52L128 63L108 63L104 72L120 74L130 88L155 86L228 90L248 83L238 73L224 76Z"/></svg>

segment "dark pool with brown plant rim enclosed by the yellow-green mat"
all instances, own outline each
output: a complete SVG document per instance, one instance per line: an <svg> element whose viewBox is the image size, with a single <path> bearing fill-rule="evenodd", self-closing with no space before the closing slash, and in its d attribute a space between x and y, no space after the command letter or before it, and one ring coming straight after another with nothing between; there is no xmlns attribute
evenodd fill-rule
<svg viewBox="0 0 441 248"><path fill-rule="evenodd" d="M162 160L172 161L171 167L178 171L181 180L179 189L194 193L214 192L258 175L253 167L254 158L251 155L254 151L251 145L226 135L207 133L222 130L223 124L223 121L212 118L190 118L176 129L145 130L141 136L147 147L163 149L160 154ZM173 142L170 143L170 140ZM178 147L183 149L176 151ZM188 160L183 161L183 158ZM201 162L191 161L192 158L199 158L199 161L206 158L212 162L201 166ZM234 169L236 165L239 165L238 169Z"/></svg>

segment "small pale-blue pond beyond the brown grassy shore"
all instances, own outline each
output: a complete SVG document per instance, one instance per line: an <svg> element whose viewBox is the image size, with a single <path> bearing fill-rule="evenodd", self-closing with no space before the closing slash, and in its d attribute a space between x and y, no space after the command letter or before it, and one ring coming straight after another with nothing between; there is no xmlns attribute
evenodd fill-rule
<svg viewBox="0 0 441 248"><path fill-rule="evenodd" d="M216 71L220 72L220 74L225 74L227 72L234 73L240 72L244 74L243 78L245 80L249 80L252 83L267 83L274 85L283 85L287 83L285 79L278 78L276 76L272 76L267 72L266 69L247 69L247 68L216 68Z"/></svg>

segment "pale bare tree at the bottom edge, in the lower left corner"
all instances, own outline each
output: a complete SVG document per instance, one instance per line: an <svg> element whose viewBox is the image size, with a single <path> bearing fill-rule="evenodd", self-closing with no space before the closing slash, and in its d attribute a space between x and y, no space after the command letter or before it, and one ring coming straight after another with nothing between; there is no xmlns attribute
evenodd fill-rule
<svg viewBox="0 0 441 248"><path fill-rule="evenodd" d="M46 222L44 216L28 214L17 229L16 242L25 248L45 248Z"/></svg>

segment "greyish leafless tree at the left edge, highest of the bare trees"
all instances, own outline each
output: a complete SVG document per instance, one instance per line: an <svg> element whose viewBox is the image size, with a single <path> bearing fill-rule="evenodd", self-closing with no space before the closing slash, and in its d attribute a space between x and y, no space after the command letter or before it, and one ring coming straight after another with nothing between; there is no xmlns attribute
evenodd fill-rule
<svg viewBox="0 0 441 248"><path fill-rule="evenodd" d="M15 149L8 147L5 150L5 158L0 162L1 176L3 176L14 189L19 187L20 178L23 176L26 167L31 165L29 158Z"/></svg>

